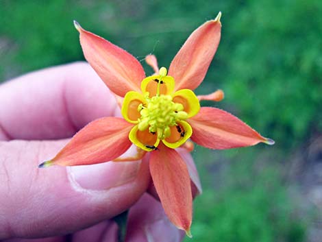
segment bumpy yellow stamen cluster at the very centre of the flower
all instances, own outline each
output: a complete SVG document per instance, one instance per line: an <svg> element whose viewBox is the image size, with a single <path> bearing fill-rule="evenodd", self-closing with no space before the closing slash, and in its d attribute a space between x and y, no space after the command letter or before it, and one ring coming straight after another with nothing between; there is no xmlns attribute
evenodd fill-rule
<svg viewBox="0 0 322 242"><path fill-rule="evenodd" d="M159 139L171 135L171 126L177 125L177 121L187 119L188 114L184 112L184 106L172 101L170 95L147 97L147 104L140 104L138 111L141 114L138 120L138 130L157 133Z"/></svg>

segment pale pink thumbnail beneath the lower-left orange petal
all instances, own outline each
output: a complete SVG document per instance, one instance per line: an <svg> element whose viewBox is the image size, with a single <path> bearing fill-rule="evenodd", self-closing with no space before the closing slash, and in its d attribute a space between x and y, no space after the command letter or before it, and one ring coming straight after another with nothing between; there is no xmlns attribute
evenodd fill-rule
<svg viewBox="0 0 322 242"><path fill-rule="evenodd" d="M108 190L136 179L140 161L104 162L96 165L68 167L73 186L89 190Z"/></svg>

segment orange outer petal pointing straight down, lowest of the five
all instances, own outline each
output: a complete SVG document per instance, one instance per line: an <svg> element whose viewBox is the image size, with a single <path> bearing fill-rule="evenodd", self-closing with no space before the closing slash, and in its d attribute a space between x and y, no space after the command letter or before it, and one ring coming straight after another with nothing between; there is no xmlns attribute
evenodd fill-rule
<svg viewBox="0 0 322 242"><path fill-rule="evenodd" d="M186 163L175 151L160 144L149 161L153 184L169 220L190 233L193 213L190 176Z"/></svg>

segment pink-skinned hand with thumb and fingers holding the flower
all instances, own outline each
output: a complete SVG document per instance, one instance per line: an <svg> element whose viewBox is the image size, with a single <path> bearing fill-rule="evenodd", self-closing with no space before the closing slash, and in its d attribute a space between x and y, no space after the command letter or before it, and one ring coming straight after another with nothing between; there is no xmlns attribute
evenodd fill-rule
<svg viewBox="0 0 322 242"><path fill-rule="evenodd" d="M88 64L1 84L0 114L1 241L114 242L112 217L129 208L127 242L182 241L184 233L155 198L147 158L38 169L86 123L119 116L114 96ZM184 149L178 152L193 163Z"/></svg>

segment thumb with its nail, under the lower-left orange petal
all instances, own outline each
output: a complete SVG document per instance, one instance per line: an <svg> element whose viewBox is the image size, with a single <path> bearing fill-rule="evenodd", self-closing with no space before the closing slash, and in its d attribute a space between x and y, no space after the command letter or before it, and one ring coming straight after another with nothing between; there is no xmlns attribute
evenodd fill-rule
<svg viewBox="0 0 322 242"><path fill-rule="evenodd" d="M146 191L146 160L38 169L65 143L0 142L0 240L75 232L121 213Z"/></svg>

